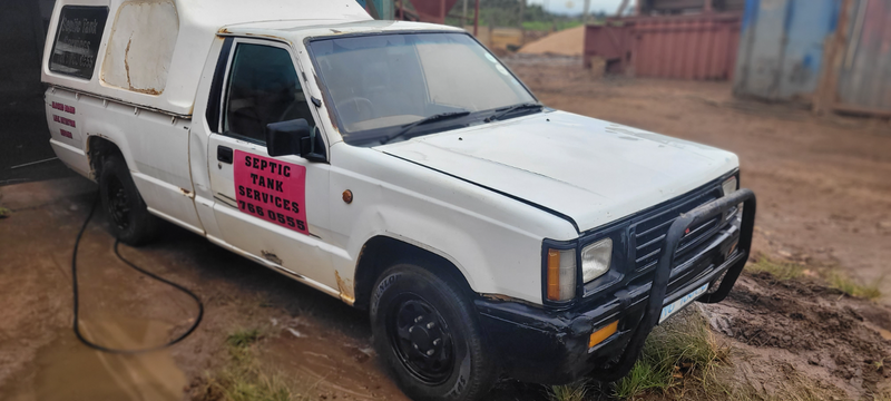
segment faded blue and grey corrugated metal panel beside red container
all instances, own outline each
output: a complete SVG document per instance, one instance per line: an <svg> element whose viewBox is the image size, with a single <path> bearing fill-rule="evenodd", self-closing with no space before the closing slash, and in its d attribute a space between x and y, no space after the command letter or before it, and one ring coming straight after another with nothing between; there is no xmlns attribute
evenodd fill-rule
<svg viewBox="0 0 891 401"><path fill-rule="evenodd" d="M810 99L840 9L841 0L748 0L734 91L771 100Z"/></svg>

